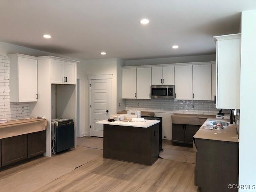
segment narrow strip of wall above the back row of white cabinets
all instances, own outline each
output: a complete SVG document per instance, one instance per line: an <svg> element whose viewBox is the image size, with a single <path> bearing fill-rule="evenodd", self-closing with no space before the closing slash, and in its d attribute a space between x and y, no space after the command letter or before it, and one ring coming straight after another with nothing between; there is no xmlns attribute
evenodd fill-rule
<svg viewBox="0 0 256 192"><path fill-rule="evenodd" d="M212 39L212 41L214 41L214 40ZM206 61L215 61L215 60L216 60L215 54L213 54L213 55L197 55L197 56L126 60L125 66L158 65L158 64L172 64L172 63L187 63L187 62L206 62Z"/></svg>

